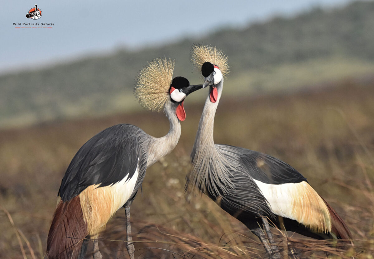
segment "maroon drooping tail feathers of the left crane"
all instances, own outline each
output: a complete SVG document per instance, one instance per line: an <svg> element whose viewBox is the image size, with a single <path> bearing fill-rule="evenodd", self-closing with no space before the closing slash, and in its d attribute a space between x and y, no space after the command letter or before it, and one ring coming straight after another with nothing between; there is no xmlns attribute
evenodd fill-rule
<svg viewBox="0 0 374 259"><path fill-rule="evenodd" d="M81 258L81 250L85 250L84 239L87 235L87 223L83 220L79 196L70 201L60 201L48 233L47 258Z"/></svg>

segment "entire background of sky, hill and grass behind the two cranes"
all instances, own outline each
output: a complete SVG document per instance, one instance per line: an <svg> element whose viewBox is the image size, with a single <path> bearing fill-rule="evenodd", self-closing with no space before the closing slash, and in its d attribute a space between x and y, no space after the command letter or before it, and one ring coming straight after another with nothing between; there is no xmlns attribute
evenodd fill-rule
<svg viewBox="0 0 374 259"><path fill-rule="evenodd" d="M25 14L35 4L43 15L32 21ZM374 1L69 0L3 7L0 258L43 258L61 179L89 138L118 123L157 137L168 132L165 115L135 100L135 77L147 61L166 57L176 59L175 76L201 82L189 62L193 43L229 56L215 142L291 164L355 238L355 247L343 249L287 233L288 246L302 258L371 258ZM54 25L15 28L17 22ZM138 258L265 256L257 238L214 202L184 194L206 94L188 96L179 144L147 170L133 203ZM102 234L107 258L128 258L123 217L117 212ZM275 234L285 240L285 233Z"/></svg>

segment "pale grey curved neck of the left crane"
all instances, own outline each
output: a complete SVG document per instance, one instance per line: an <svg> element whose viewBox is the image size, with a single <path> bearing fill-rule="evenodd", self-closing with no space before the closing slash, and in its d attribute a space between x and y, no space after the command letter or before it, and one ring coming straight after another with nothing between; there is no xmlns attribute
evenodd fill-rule
<svg viewBox="0 0 374 259"><path fill-rule="evenodd" d="M181 136L181 123L175 113L175 105L176 104L172 102L167 102L165 105L164 111L170 122L168 134L161 138L154 138L151 136L151 141L148 145L147 167L169 154L178 144Z"/></svg>

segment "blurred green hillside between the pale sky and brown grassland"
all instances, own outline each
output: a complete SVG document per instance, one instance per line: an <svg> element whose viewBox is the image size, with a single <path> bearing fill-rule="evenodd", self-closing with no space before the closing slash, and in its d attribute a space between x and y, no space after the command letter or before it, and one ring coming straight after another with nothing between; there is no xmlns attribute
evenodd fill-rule
<svg viewBox="0 0 374 259"><path fill-rule="evenodd" d="M359 1L136 52L98 53L68 64L1 75L0 127L138 110L132 87L137 72L153 58L175 58L174 75L197 83L199 73L193 73L189 62L193 43L214 44L229 56L232 73L225 95L292 91L374 75L373 32L374 2Z"/></svg>

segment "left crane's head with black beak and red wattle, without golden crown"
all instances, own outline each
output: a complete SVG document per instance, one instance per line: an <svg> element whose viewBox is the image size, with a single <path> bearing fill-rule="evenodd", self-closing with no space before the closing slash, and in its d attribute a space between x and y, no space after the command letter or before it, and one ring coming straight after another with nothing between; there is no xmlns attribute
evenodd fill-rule
<svg viewBox="0 0 374 259"><path fill-rule="evenodd" d="M173 79L170 85L169 94L171 101L178 103L176 114L180 121L186 119L186 112L183 107L184 98L202 87L202 84L190 85L190 82L184 77L175 77Z"/></svg>

